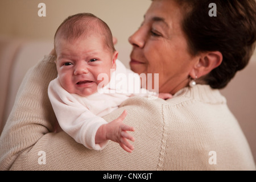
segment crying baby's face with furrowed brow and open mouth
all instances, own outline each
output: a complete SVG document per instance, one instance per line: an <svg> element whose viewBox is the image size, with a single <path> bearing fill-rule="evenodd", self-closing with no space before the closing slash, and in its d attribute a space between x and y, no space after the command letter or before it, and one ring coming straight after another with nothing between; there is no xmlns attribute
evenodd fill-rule
<svg viewBox="0 0 256 182"><path fill-rule="evenodd" d="M99 36L89 36L72 41L57 40L56 67L60 84L69 93L89 96L97 92L102 80L100 73L108 75L101 83L105 86L110 81L110 71L115 69L117 52L110 53Z"/></svg>

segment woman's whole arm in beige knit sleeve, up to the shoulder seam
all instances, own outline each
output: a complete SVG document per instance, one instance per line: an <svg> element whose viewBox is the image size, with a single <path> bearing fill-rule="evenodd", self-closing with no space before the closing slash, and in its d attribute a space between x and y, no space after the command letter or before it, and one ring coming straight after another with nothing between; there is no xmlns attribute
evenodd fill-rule
<svg viewBox="0 0 256 182"><path fill-rule="evenodd" d="M24 77L0 138L1 170L155 170L158 167L162 107L135 97L104 117L108 122L113 121L127 110L129 114L123 122L135 128L133 153L127 153L112 141L100 152L89 150L64 131L53 133L56 117L47 88L56 76L54 58L46 56Z"/></svg>

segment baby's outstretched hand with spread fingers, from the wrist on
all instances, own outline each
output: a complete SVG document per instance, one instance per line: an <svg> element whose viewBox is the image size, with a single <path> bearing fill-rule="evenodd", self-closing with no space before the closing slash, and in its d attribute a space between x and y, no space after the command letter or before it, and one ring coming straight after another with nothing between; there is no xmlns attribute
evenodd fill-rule
<svg viewBox="0 0 256 182"><path fill-rule="evenodd" d="M117 142L123 148L123 150L132 152L134 147L128 140L134 142L134 138L127 133L127 131L134 131L134 128L123 123L123 119L125 119L126 115L127 111L124 110L117 119L114 119L112 122L106 124L106 139Z"/></svg>

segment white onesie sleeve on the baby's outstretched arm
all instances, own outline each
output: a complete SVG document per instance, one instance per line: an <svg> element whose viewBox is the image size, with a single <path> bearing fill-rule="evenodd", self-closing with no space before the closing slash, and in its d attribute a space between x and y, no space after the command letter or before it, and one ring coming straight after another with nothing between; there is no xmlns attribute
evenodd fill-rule
<svg viewBox="0 0 256 182"><path fill-rule="evenodd" d="M63 131L87 148L102 150L106 146L108 141L95 143L98 128L107 123L105 119L93 114L63 89L58 77L49 83L48 96Z"/></svg>

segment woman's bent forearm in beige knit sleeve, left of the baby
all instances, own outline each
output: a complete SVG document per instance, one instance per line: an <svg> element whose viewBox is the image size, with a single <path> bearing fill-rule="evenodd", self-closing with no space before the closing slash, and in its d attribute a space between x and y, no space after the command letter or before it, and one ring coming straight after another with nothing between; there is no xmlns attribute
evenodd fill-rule
<svg viewBox="0 0 256 182"><path fill-rule="evenodd" d="M54 56L45 56L27 72L20 85L0 138L1 169L9 169L22 152L53 131L56 117L48 100L47 85L57 76L54 61Z"/></svg>

